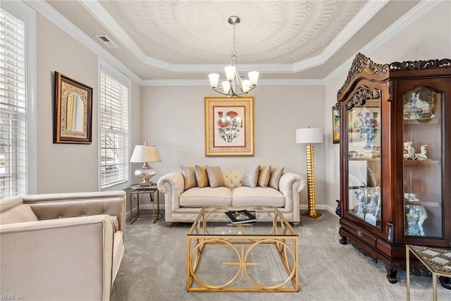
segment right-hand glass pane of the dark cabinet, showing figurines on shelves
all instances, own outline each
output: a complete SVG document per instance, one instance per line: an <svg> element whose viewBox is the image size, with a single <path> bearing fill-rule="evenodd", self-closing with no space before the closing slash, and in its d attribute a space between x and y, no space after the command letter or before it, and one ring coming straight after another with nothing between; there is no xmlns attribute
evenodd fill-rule
<svg viewBox="0 0 451 301"><path fill-rule="evenodd" d="M441 238L442 94L418 86L403 97L404 235Z"/></svg>

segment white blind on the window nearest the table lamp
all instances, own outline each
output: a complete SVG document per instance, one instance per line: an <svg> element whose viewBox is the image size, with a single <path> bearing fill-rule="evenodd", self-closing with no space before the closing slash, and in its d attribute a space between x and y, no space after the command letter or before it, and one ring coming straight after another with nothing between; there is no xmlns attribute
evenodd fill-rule
<svg viewBox="0 0 451 301"><path fill-rule="evenodd" d="M100 81L100 182L106 189L128 182L129 88L104 71Z"/></svg>

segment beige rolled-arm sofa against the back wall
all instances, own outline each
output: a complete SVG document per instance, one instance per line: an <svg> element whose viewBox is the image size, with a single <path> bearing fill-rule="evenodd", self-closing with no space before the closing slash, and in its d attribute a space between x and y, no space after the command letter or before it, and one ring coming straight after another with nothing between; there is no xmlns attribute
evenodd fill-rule
<svg viewBox="0 0 451 301"><path fill-rule="evenodd" d="M278 181L278 189L271 187L243 186L243 170L221 170L224 186L211 188L189 188L185 190L182 171L168 173L158 181L158 188L164 194L165 220L168 226L176 222L192 222L202 207L275 206L288 221L297 226L300 221L299 192L306 181L302 176L284 171ZM276 187L276 186L275 186ZM266 221L264 216L259 221ZM212 216L211 221L223 221L223 214Z"/></svg>

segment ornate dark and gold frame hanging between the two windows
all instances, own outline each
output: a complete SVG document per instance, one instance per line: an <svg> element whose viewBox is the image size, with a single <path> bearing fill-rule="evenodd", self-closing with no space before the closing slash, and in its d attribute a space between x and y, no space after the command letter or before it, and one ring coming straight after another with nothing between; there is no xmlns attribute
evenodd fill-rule
<svg viewBox="0 0 451 301"><path fill-rule="evenodd" d="M56 71L54 143L92 143L92 87Z"/></svg>

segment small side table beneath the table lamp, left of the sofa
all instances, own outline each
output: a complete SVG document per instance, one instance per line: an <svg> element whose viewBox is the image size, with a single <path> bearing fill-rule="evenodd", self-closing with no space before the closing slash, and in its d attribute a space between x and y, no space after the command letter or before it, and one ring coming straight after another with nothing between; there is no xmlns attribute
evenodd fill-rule
<svg viewBox="0 0 451 301"><path fill-rule="evenodd" d="M150 202L152 202L152 214L140 214L140 194L149 193ZM133 205L132 199L133 195L136 195L137 200L137 214L133 215ZM156 197L155 197L156 195ZM156 203L156 211L155 211ZM149 186L141 186L140 184L130 185L130 225L134 223L139 217L154 219L153 222L156 223L159 219L163 218L163 214L160 213L160 197L158 193L158 188L156 188L156 183L152 183Z"/></svg>

